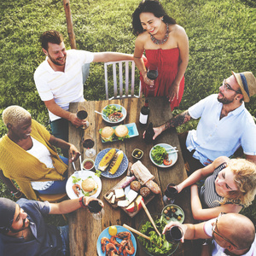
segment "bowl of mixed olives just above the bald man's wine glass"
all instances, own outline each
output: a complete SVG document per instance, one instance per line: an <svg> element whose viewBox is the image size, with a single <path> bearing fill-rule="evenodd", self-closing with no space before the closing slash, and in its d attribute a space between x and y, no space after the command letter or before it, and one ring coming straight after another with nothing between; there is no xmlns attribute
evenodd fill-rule
<svg viewBox="0 0 256 256"><path fill-rule="evenodd" d="M173 204L167 205L163 208L162 216L163 218L165 218L167 223L169 223L170 221L178 221L180 223L183 223L185 218L183 209Z"/></svg>

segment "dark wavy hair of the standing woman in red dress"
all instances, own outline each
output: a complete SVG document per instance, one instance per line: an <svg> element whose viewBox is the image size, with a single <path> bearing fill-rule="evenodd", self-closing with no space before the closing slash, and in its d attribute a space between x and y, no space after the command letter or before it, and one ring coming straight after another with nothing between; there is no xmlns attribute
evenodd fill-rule
<svg viewBox="0 0 256 256"><path fill-rule="evenodd" d="M166 14L166 11L157 0L143 0L132 14L132 28L136 36L144 32L140 20L142 13L151 13L157 18L163 17L165 23L176 24L176 21Z"/></svg>

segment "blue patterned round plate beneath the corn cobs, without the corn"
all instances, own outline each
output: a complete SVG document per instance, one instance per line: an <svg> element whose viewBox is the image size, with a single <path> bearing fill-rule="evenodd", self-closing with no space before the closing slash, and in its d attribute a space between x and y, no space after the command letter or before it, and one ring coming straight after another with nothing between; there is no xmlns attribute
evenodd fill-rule
<svg viewBox="0 0 256 256"><path fill-rule="evenodd" d="M99 154L97 154L96 160L95 160L95 169L96 170L98 170L98 166L99 166L100 161L102 160L103 156L105 154L107 154L110 149L111 148L103 149ZM116 149L116 152L119 152L119 149ZM114 174L109 173L109 166L108 166L106 171L103 171L101 175L103 177L110 177L110 178L119 177L127 170L128 163L129 162L128 162L127 156L124 153L123 160L121 161L121 164L120 164L118 170Z"/></svg>

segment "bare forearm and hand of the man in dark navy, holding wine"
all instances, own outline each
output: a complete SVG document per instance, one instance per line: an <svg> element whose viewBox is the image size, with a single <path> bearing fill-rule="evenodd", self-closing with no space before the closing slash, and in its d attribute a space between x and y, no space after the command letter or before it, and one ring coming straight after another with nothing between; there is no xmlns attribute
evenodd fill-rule
<svg viewBox="0 0 256 256"><path fill-rule="evenodd" d="M102 207L104 207L103 202L99 199L84 196L84 205L88 206L90 201L100 201L102 204ZM79 209L80 203L79 198L77 199L71 199L66 201L61 201L60 203L50 203L50 212L49 214L66 214L69 212L73 212L77 209Z"/></svg>

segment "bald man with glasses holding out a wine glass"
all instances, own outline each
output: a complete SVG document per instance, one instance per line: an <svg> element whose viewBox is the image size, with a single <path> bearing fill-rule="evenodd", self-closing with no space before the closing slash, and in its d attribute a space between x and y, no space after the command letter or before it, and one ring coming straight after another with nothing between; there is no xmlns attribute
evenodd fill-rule
<svg viewBox="0 0 256 256"><path fill-rule="evenodd" d="M223 212L201 224L180 224L171 222L166 225L163 234L172 226L178 225L183 230L186 240L207 239L202 246L201 255L256 255L255 228L253 222L239 213Z"/></svg>

